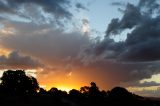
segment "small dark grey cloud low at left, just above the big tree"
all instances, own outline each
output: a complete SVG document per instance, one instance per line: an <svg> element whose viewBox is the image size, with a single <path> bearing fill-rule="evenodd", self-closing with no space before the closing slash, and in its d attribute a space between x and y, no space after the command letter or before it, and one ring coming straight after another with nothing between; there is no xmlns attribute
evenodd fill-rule
<svg viewBox="0 0 160 106"><path fill-rule="evenodd" d="M1 69L33 69L43 65L30 56L22 56L17 51L11 52L7 57L0 56Z"/></svg>

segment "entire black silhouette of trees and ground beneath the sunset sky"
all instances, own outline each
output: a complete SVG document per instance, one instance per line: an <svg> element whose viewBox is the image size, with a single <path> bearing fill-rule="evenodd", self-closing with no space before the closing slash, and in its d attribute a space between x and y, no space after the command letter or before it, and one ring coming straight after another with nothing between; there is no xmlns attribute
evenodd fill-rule
<svg viewBox="0 0 160 106"><path fill-rule="evenodd" d="M8 70L1 77L0 106L160 106L159 101L146 99L115 87L100 91L95 82L80 90L51 88L46 91L24 70Z"/></svg>

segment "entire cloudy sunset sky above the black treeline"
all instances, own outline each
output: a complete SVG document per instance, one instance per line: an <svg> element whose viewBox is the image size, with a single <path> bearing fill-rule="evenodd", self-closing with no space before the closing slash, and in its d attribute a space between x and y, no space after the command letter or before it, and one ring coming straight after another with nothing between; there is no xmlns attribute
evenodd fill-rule
<svg viewBox="0 0 160 106"><path fill-rule="evenodd" d="M158 0L0 0L0 74L160 96Z"/></svg>

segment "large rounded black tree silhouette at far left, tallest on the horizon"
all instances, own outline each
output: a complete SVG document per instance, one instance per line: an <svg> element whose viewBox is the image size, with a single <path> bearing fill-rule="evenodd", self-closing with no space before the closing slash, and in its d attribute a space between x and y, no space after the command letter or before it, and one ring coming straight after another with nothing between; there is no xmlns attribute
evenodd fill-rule
<svg viewBox="0 0 160 106"><path fill-rule="evenodd" d="M39 89L37 80L27 76L24 70L5 71L1 80L4 92L9 95L30 95L35 94Z"/></svg>

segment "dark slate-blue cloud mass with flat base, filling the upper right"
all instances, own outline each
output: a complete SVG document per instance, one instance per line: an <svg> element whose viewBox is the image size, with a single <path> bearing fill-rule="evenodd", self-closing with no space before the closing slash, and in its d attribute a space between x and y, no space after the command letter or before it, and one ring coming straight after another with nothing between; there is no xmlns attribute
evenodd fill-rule
<svg viewBox="0 0 160 106"><path fill-rule="evenodd" d="M156 11L156 0L142 0L138 5L128 3L121 19L114 18L108 25L106 37L98 42L94 55L106 55L110 52L111 58L121 61L154 61L160 59L160 17L159 13L148 13L148 8ZM147 5L145 9L144 5ZM131 29L127 38L121 42L115 42L110 36L119 36L126 29ZM97 54L98 53L98 54Z"/></svg>

